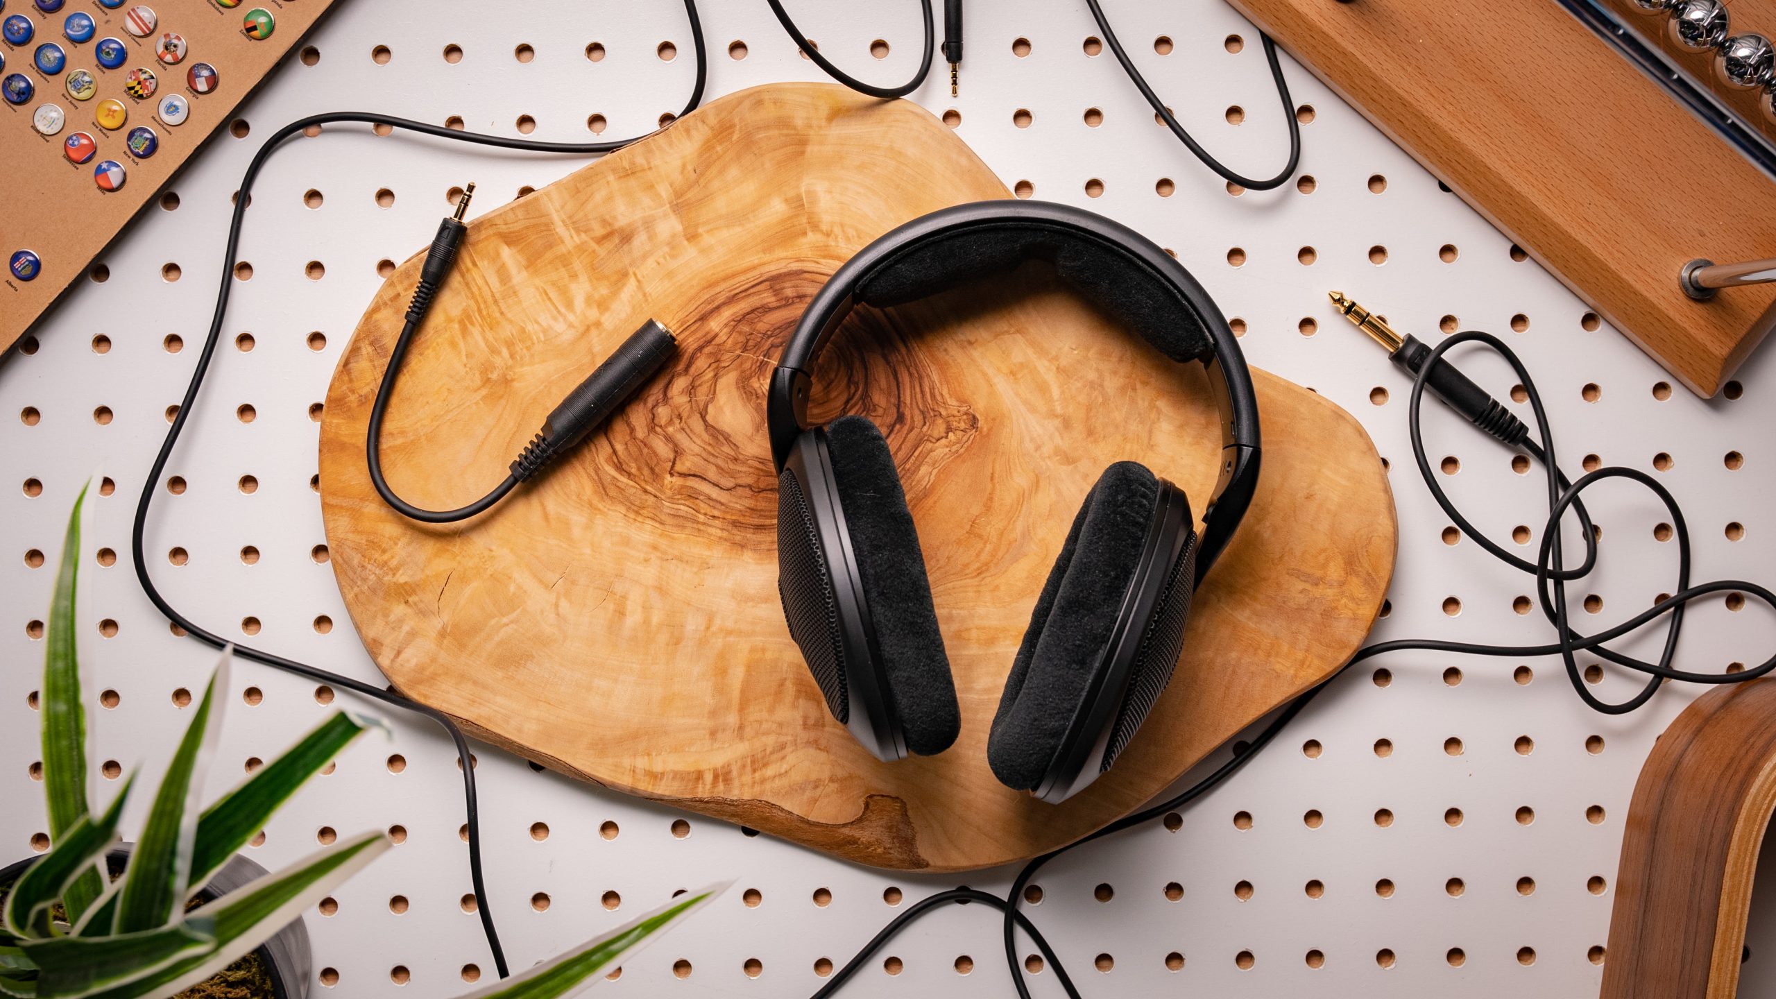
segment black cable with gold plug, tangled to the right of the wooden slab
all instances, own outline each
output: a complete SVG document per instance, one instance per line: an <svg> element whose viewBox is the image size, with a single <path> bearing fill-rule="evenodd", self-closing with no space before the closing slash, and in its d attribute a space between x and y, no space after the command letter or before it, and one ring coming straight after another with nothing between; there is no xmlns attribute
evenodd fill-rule
<svg viewBox="0 0 1776 999"><path fill-rule="evenodd" d="M1025 930L1025 933L1030 935L1030 939L1041 949L1048 963L1053 965L1055 981L1057 985L1060 985L1062 992L1069 999L1080 999L1078 988L1074 987L1073 979L1066 974L1066 971L1060 967L1060 963L1055 960L1053 951L1048 946L1048 940L1018 910L1018 905L1023 899L1025 887L1046 862L1053 860L1055 857L1076 846L1092 843L1096 839L1103 839L1110 834L1122 832L1135 825L1153 821L1163 814L1174 812L1188 805L1190 802L1201 798L1217 784L1238 773L1238 770L1245 766L1245 763L1249 763L1259 750L1263 750L1282 731L1284 725L1288 725L1296 715L1300 715L1300 711L1314 697L1318 697L1332 683L1332 679L1336 679L1339 674L1343 674L1344 670L1348 670L1357 663L1373 659L1375 656L1384 656L1387 652L1407 652L1407 651L1453 652L1467 656L1492 656L1492 658L1511 658L1511 659L1561 656L1561 659L1566 665L1566 677L1572 683L1574 690L1579 693L1581 700L1584 700L1584 704L1588 704L1591 709L1606 715L1623 715L1634 711L1636 707L1646 704L1646 700L1668 679L1700 683L1700 684L1746 683L1767 675L1772 668L1776 668L1776 654L1764 659L1756 667L1746 668L1742 672L1700 674L1671 667L1671 659L1677 652L1678 633L1682 631L1684 624L1684 608L1691 601L1696 601L1710 594L1737 592L1753 595L1764 601L1765 606L1776 610L1776 592L1771 592L1765 587L1744 579L1717 579L1714 583L1700 583L1693 587L1689 583L1689 565L1691 565L1689 530L1684 523L1684 512L1678 507L1677 500L1671 496L1671 492L1650 475L1639 469L1606 466L1591 473L1586 473L1577 482L1568 484L1566 476L1561 475L1559 466L1554 460L1554 434L1549 428L1547 412L1543 411L1542 405L1542 393L1536 389L1534 380L1524 368L1522 359L1518 359L1517 354L1504 345L1504 341L1488 332L1467 331L1449 336L1435 348L1431 348L1412 336L1401 336L1394 332L1392 329L1389 329L1385 320L1369 313L1368 309L1346 299L1344 295L1332 292L1330 297L1341 315L1344 315L1352 324L1357 324L1376 343L1387 348L1394 366L1412 375L1412 396L1407 412L1407 421L1412 432L1412 457L1417 462L1419 476L1424 480L1424 485L1437 500L1437 505L1442 507L1444 514L1449 515L1449 519L1456 524L1456 528L1460 528L1463 535L1472 539L1485 551L1492 553L1506 565L1511 565L1513 569L1518 569L1520 572L1536 578L1536 592L1542 603L1542 611L1547 617L1547 620L1554 626L1558 638L1554 642L1547 642L1542 645L1487 645L1478 642L1442 642L1430 638L1401 638L1394 642L1376 642L1373 645L1366 645L1359 649L1350 658L1350 661L1337 670L1337 674L1327 677L1325 681L1309 688L1305 693L1298 695L1295 700L1284 706L1275 715L1275 718L1268 725L1265 725L1265 729L1259 731L1257 736L1252 738L1252 741L1247 747L1236 748L1229 761L1220 764L1202 780L1192 784L1181 795L1176 795L1158 805L1151 805L1122 819L1117 819L1106 825L1105 828L1090 835L1085 835L1083 839L1076 839L1067 846L1044 853L1025 864L1023 869L1018 871L1018 876L1012 880L1011 891L1005 894L1005 898L998 899L1000 905L995 907L1000 908L1000 912L1003 914L1002 930L1005 944L1005 965L1011 971L1012 985L1016 987L1019 999L1030 999L1030 987L1025 981L1023 962L1018 960L1016 930L1019 926ZM1524 389L1531 412L1534 414L1534 439L1531 439L1531 428L1522 420L1506 411L1502 404L1499 404L1495 398L1492 398L1492 395L1476 386L1455 364L1444 361L1444 354L1447 354L1453 347L1460 347L1463 343L1481 343L1485 347L1490 347L1494 352L1502 356L1506 363L1510 363L1511 370L1517 373L1518 384ZM1506 448L1517 450L1526 457L1533 459L1547 473L1549 515L1542 528L1542 547L1534 562L1518 558L1504 551L1501 546L1492 542L1492 539L1487 539L1483 533L1479 533L1479 530L1467 517L1463 517L1460 510L1455 508L1455 503L1449 501L1442 487L1437 485L1435 471L1431 469L1430 459L1426 457L1424 452L1424 436L1421 430L1421 412L1423 412L1421 407L1426 389L1430 389L1433 396L1440 398L1444 404L1447 404L1451 409L1455 409L1465 420L1469 420L1474 427L1481 428ZM1579 496L1591 485L1604 482L1607 478L1627 478L1632 482L1639 482L1641 485L1650 489L1659 498L1661 503L1664 503L1664 508L1671 517L1671 528L1673 528L1671 537L1677 539L1678 546L1677 592L1671 594L1669 597L1661 599L1652 608L1630 617L1629 620L1616 624L1614 627L1607 627L1595 635L1581 635L1572 627L1572 619L1566 611L1565 583L1586 576L1595 567L1597 537L1591 528L1590 517L1584 514L1584 505L1581 503ZM1561 521L1568 508L1574 510L1574 517L1579 521L1579 530L1582 533L1582 542L1584 542L1584 562L1577 569L1565 567L1565 555L1561 547L1563 542ZM1666 627L1664 649L1657 661L1646 661L1634 656L1627 656L1606 645L1606 642L1614 642L1616 638L1637 631L1641 626L1652 622L1662 613L1669 613L1671 620ZM1577 652L1591 652L1611 663L1648 674L1650 679L1646 686L1641 688L1641 691L1636 693L1634 697L1621 702L1606 702L1588 690L1584 674L1579 670L1579 663L1575 658ZM838 990L838 985L842 985L861 962L868 960L868 956L876 953L876 949L886 944L890 937L904 930L916 917L924 915L925 912L931 912L931 908L938 907L943 901L964 901L964 899L971 899L971 896L957 896L955 891L936 892L931 898L922 899L918 905L915 905L906 914L899 915L888 926L884 926L881 933L877 933L876 939L872 939L863 951L860 951L854 958L851 958L851 962L847 962L845 967L833 976L833 981L826 983L826 987L815 992L815 999L829 999Z"/></svg>

